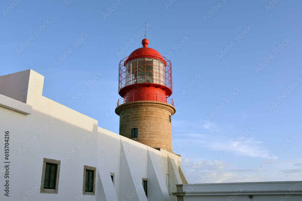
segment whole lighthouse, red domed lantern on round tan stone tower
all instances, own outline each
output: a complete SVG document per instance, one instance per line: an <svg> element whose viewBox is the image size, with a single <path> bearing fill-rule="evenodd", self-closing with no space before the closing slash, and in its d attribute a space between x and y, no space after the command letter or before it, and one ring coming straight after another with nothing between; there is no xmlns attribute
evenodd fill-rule
<svg viewBox="0 0 302 201"><path fill-rule="evenodd" d="M171 62L158 51L134 50L120 61L115 113L120 116L119 134L147 146L172 153L171 116L175 113L172 94Z"/></svg>

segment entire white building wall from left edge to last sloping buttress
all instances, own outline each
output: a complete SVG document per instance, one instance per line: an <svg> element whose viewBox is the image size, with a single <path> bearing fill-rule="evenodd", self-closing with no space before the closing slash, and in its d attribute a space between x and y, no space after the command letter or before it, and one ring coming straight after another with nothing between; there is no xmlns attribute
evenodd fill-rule
<svg viewBox="0 0 302 201"><path fill-rule="evenodd" d="M1 184L5 131L10 135L11 161L9 197L1 191L0 200L175 200L164 187L166 174L171 175L173 190L182 184L179 156L100 128L97 120L43 97L43 79L33 70L0 76ZM20 97L22 104L12 99ZM43 158L61 161L58 194L40 193ZM82 195L84 165L97 168L94 196ZM110 172L115 173L114 186ZM148 199L143 190L135 191L142 178L148 178Z"/></svg>

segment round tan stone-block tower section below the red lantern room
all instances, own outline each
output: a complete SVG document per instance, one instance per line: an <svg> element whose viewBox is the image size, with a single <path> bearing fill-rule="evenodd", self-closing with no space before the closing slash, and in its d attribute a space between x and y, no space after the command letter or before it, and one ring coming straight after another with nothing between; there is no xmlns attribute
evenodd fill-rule
<svg viewBox="0 0 302 201"><path fill-rule="evenodd" d="M169 115L175 107L158 101L133 101L119 105L115 113L120 116L119 134L153 148L172 152L172 125ZM131 138L137 128L137 138Z"/></svg>

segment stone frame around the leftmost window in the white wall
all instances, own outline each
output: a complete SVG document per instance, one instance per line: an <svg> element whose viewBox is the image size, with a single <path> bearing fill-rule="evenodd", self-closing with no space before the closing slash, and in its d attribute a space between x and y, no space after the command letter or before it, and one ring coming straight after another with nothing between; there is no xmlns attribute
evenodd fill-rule
<svg viewBox="0 0 302 201"><path fill-rule="evenodd" d="M46 163L55 164L56 166L56 184L54 189L44 188L44 181L45 181L45 170L46 170ZM43 158L43 166L42 166L42 178L41 178L41 187L40 193L53 193L58 194L59 188L59 176L60 176L60 166L61 161L55 159L47 159Z"/></svg>

